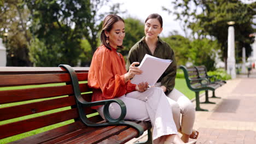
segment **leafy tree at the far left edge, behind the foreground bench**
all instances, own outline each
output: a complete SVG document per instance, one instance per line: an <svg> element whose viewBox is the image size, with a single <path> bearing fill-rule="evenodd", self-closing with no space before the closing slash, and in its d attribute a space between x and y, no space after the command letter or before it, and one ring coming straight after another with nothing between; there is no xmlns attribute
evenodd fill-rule
<svg viewBox="0 0 256 144"><path fill-rule="evenodd" d="M31 66L28 47L30 11L22 0L0 1L0 35L8 32L7 66Z"/></svg>

